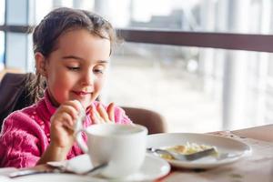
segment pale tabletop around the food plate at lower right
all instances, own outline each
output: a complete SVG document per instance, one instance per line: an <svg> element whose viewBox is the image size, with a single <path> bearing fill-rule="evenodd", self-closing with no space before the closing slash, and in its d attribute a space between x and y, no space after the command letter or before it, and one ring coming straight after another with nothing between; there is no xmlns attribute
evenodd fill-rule
<svg viewBox="0 0 273 182"><path fill-rule="evenodd" d="M220 131L215 135L233 137L246 142L253 149L252 156L237 163L209 169L193 171L172 169L167 176L157 181L187 182L272 182L273 181L273 125L256 126L236 131Z"/></svg>

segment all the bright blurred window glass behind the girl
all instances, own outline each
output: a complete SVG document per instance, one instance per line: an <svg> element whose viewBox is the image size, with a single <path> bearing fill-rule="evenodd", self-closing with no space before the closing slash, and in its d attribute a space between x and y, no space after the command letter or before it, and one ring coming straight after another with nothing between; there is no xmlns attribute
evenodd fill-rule
<svg viewBox="0 0 273 182"><path fill-rule="evenodd" d="M0 71L34 72L27 29L60 6L96 12L118 30L219 33L224 41L273 33L271 0L0 0ZM155 110L169 132L272 124L272 61L263 50L125 40L112 56L103 100Z"/></svg>

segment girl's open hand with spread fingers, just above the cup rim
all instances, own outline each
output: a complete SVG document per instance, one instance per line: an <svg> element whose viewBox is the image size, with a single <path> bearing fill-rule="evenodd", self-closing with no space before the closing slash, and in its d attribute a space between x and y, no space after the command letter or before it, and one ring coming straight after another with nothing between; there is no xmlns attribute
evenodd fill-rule
<svg viewBox="0 0 273 182"><path fill-rule="evenodd" d="M91 105L90 116L96 124L115 123L115 105L110 103L107 109L100 103Z"/></svg>

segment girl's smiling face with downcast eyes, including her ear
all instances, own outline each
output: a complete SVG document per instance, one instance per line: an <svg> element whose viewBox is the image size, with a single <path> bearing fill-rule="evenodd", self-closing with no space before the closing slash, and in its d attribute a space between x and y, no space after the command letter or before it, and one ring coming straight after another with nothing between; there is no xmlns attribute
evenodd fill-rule
<svg viewBox="0 0 273 182"><path fill-rule="evenodd" d="M45 60L49 96L55 106L79 100L86 108L99 95L109 64L110 41L84 29L71 30L58 39Z"/></svg>

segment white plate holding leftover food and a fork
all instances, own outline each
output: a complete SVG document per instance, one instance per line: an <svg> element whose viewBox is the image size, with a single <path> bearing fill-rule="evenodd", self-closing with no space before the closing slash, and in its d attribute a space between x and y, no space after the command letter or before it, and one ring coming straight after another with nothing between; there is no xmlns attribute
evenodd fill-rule
<svg viewBox="0 0 273 182"><path fill-rule="evenodd" d="M195 133L166 133L147 136L147 147L173 147L189 143L204 144L217 147L219 155L227 154L228 157L203 157L194 161L167 160L174 167L185 168L212 168L227 165L251 154L251 147L236 139L224 136Z"/></svg>

